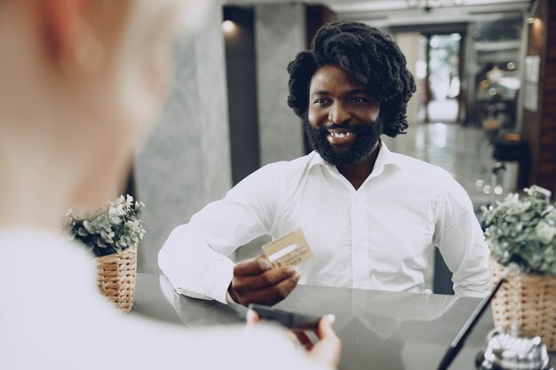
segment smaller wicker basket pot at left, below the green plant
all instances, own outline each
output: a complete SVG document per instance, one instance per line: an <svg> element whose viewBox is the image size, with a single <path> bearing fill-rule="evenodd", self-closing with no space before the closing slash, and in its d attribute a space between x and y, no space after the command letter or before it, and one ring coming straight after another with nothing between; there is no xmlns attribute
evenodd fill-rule
<svg viewBox="0 0 556 370"><path fill-rule="evenodd" d="M127 248L114 255L97 257L97 265L102 294L121 311L131 311L137 274L137 247Z"/></svg>

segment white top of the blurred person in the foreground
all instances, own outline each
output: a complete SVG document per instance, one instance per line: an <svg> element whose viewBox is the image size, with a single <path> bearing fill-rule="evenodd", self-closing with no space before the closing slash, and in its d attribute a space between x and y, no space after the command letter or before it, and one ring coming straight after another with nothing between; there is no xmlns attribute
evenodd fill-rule
<svg viewBox="0 0 556 370"><path fill-rule="evenodd" d="M270 327L187 328L123 315L83 246L0 229L0 369L323 369ZM271 360L270 360L271 359Z"/></svg>

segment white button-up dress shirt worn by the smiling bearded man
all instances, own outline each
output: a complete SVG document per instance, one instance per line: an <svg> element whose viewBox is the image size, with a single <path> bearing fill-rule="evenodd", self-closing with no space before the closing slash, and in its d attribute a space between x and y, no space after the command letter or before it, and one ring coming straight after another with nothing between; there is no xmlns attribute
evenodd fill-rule
<svg viewBox="0 0 556 370"><path fill-rule="evenodd" d="M298 228L314 255L298 268L301 284L422 292L435 246L457 295L488 294L488 247L465 190L384 143L358 190L315 152L258 169L171 232L159 265L180 293L226 303L226 256Z"/></svg>

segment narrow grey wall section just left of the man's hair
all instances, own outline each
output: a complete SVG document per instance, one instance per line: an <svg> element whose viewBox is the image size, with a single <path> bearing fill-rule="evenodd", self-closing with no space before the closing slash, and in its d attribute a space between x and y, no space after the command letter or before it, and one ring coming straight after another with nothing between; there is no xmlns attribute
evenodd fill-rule
<svg viewBox="0 0 556 370"><path fill-rule="evenodd" d="M304 154L298 117L287 106L286 67L306 49L305 4L255 6L260 164Z"/></svg>

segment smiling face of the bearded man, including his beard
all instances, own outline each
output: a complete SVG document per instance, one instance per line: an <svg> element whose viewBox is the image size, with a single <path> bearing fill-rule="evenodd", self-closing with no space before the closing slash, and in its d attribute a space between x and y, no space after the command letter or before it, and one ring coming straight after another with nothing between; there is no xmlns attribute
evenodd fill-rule
<svg viewBox="0 0 556 370"><path fill-rule="evenodd" d="M342 68L318 69L309 84L304 130L317 153L336 166L359 163L377 146L380 103Z"/></svg>

